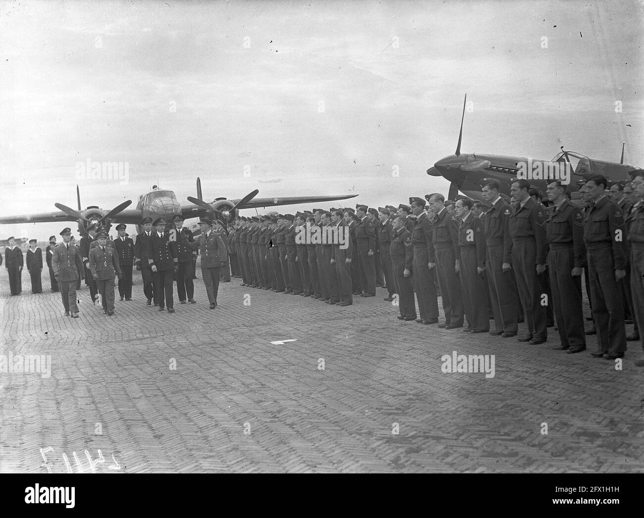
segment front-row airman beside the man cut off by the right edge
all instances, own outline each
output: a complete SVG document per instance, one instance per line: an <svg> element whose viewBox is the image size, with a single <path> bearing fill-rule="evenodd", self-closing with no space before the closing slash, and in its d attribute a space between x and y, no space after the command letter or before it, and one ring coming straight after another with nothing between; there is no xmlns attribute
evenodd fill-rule
<svg viewBox="0 0 644 518"><path fill-rule="evenodd" d="M623 357L626 351L620 281L626 277L627 261L624 215L604 194L607 183L601 175L592 176L585 183L591 205L585 217L583 239L597 329L597 352L591 355L614 360Z"/></svg>

